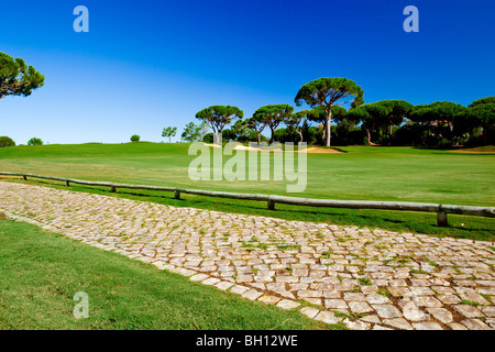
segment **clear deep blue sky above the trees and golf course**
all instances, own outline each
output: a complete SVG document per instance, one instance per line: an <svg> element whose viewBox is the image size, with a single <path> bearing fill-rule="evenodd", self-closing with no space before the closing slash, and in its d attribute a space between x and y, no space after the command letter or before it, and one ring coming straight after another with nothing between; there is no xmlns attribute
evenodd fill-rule
<svg viewBox="0 0 495 352"><path fill-rule="evenodd" d="M89 33L75 33L76 6ZM406 6L419 33L406 33ZM161 141L212 105L245 117L292 103L319 77L346 77L366 102L494 96L493 0L3 2L0 52L46 76L31 97L0 100L0 135L25 144ZM302 109L301 108L296 108Z"/></svg>

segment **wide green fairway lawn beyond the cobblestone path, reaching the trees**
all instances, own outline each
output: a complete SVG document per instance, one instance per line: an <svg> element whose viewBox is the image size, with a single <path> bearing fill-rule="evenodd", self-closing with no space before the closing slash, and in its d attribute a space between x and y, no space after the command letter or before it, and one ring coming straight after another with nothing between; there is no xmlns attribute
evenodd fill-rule
<svg viewBox="0 0 495 352"><path fill-rule="evenodd" d="M495 206L495 153L425 150L413 147L339 147L342 154L308 154L308 185L304 194L289 196L419 201L468 206ZM0 169L55 175L89 180L147 184L197 189L287 195L286 185L275 182L193 182L187 168L196 156L188 144L125 143L43 145L0 148ZM226 156L224 160L228 157ZM53 183L40 183L55 185ZM58 183L59 185L59 183ZM58 186L54 186L58 187ZM72 187L102 193L107 189ZM118 197L173 206L272 216L293 220L383 228L433 235L476 240L495 239L495 220L449 216L449 228L437 227L435 213L310 208L172 194L119 190Z"/></svg>

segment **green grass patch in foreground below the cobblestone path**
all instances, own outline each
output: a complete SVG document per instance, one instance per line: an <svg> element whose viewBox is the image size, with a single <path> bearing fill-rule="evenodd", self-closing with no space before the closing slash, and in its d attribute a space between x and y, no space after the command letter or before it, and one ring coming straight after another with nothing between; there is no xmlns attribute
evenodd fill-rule
<svg viewBox="0 0 495 352"><path fill-rule="evenodd" d="M0 330L339 328L22 222L0 221Z"/></svg>

